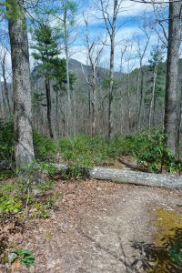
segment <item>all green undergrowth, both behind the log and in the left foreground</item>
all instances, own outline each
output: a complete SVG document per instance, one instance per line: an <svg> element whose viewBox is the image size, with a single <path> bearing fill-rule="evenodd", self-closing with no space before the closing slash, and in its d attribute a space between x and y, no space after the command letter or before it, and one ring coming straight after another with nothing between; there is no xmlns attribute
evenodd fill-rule
<svg viewBox="0 0 182 273"><path fill-rule="evenodd" d="M25 177L15 169L12 120L0 123L0 144L0 262L10 262L8 251L12 251L14 260L18 259L26 267L35 263L34 255L16 246L13 246L15 250L7 250L12 249L8 238L15 228L23 230L27 220L49 217L50 210L56 209L56 200L62 197L62 193L54 192L56 180L86 178L89 168L94 166L120 167L118 158L123 157L148 172L182 171L180 157L174 157L165 146L162 128L115 136L110 141L106 136L53 140L35 131L36 160L26 167ZM68 167L60 173L53 163L66 163Z"/></svg>

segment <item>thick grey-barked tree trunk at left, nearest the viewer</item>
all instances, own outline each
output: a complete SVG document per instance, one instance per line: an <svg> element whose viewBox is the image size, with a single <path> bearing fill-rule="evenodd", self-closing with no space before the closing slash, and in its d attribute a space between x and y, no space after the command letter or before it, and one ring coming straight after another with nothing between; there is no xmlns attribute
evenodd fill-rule
<svg viewBox="0 0 182 273"><path fill-rule="evenodd" d="M7 0L8 29L11 44L14 93L15 162L16 166L34 160L32 101L28 39L24 0ZM19 10L18 15L17 8Z"/></svg>

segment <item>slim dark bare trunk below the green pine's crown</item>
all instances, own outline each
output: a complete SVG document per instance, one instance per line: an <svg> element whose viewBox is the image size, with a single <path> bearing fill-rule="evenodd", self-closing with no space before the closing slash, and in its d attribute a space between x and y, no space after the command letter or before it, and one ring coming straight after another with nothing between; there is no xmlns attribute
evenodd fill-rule
<svg viewBox="0 0 182 273"><path fill-rule="evenodd" d="M53 129L52 129L52 121L51 121L51 90L50 90L50 82L45 78L45 91L46 91L46 115L48 122L48 132L51 138L54 137Z"/></svg>

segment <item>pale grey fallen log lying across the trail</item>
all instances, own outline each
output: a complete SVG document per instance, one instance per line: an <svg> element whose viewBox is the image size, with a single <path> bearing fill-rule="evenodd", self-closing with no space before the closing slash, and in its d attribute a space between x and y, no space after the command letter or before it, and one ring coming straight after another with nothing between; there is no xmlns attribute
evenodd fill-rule
<svg viewBox="0 0 182 273"><path fill-rule="evenodd" d="M58 170L67 168L65 164L54 164L54 166ZM93 167L90 169L89 175L94 179L111 180L117 183L182 189L182 176L177 175L162 175L105 167Z"/></svg>

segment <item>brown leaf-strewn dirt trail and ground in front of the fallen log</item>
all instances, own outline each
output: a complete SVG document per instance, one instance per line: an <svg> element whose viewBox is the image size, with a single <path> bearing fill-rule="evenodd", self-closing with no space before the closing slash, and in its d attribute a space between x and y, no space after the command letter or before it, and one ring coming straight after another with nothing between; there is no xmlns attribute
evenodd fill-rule
<svg viewBox="0 0 182 273"><path fill-rule="evenodd" d="M1 273L182 272L147 269L160 261L153 245L158 235L167 236L172 223L182 227L181 191L96 180L59 181L55 191L63 197L51 216L28 222L23 235L14 235L17 248L34 253L35 266L16 262L0 267Z"/></svg>

